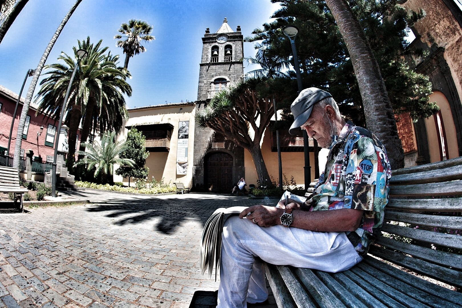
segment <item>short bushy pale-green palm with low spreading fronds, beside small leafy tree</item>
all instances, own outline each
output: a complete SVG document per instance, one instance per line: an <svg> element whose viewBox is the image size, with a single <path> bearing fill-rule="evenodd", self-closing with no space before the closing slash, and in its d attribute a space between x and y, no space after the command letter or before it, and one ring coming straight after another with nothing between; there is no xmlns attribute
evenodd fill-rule
<svg viewBox="0 0 462 308"><path fill-rule="evenodd" d="M104 183L112 182L108 176L113 174L115 164L134 166L132 159L119 157L120 153L127 149L127 145L125 145L125 141L115 142L115 138L116 132L112 131L103 134L101 145L85 143L84 146L87 151L79 151L79 155L84 155L85 157L77 161L74 166L86 165L88 171L96 167L95 178L102 173Z"/></svg>

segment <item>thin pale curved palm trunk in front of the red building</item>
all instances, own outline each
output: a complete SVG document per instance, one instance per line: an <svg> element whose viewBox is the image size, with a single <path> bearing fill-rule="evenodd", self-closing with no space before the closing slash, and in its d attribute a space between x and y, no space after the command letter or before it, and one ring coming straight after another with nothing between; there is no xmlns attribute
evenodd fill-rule
<svg viewBox="0 0 462 308"><path fill-rule="evenodd" d="M19 168L19 158L20 158L19 156L21 155L21 144L23 141L22 135L24 131L24 125L26 122L27 113L29 112L30 101L32 100L32 96L34 95L34 91L35 91L35 86L37 85L37 82L38 82L38 77L40 76L40 73L42 72L43 66L45 65L45 61L47 60L48 55L50 54L51 48L53 48L53 45L55 45L55 42L58 39L58 36L61 34L62 29L67 23L67 20L69 20L72 13L75 11L75 9L80 4L80 2L82 2L82 0L75 1L74 5L71 7L69 12L67 12L67 15L63 18L63 20L61 21L61 24L56 30L55 35L51 38L50 42L48 43L47 48L45 48L45 52L43 53L42 59L40 59L40 62L38 63L37 68L35 69L34 76L32 77L32 81L30 82L29 90L27 91L26 99L23 104L23 110L19 118L18 131L16 134L16 144L14 146L13 167ZM58 138L58 136L59 136L59 132L57 132L56 138Z"/></svg>

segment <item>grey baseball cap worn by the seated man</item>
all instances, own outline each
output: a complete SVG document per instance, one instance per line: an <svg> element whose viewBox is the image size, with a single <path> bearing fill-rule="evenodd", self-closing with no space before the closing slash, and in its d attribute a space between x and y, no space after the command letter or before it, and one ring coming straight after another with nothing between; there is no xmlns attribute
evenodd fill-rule
<svg viewBox="0 0 462 308"><path fill-rule="evenodd" d="M291 135L295 135L298 128L308 120L313 105L326 97L332 97L332 95L318 88L308 88L298 94L298 97L290 106L294 119L292 126L289 128L289 133Z"/></svg>

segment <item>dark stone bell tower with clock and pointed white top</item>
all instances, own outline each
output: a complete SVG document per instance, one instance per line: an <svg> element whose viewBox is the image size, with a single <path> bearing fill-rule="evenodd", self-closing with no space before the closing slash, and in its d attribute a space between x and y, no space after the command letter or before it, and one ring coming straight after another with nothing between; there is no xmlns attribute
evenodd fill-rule
<svg viewBox="0 0 462 308"><path fill-rule="evenodd" d="M202 37L196 114L210 99L243 76L243 35L233 31L225 18L215 33L209 28ZM231 192L237 178L244 176L244 152L212 129L195 126L193 186L205 191Z"/></svg>

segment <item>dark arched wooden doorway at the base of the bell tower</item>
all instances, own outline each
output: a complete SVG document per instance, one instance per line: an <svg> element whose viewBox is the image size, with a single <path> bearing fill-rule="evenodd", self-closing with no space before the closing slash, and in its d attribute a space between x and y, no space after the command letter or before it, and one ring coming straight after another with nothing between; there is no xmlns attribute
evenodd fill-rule
<svg viewBox="0 0 462 308"><path fill-rule="evenodd" d="M231 154L213 152L205 158L205 188L212 192L231 192L232 166Z"/></svg>

